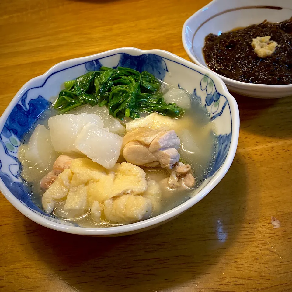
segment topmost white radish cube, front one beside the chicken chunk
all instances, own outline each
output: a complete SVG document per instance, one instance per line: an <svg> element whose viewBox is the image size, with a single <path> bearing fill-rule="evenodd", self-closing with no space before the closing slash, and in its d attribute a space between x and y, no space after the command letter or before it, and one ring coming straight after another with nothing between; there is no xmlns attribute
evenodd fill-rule
<svg viewBox="0 0 292 292"><path fill-rule="evenodd" d="M88 123L81 130L74 145L93 161L111 169L120 156L122 143L123 138L119 135L94 123Z"/></svg>

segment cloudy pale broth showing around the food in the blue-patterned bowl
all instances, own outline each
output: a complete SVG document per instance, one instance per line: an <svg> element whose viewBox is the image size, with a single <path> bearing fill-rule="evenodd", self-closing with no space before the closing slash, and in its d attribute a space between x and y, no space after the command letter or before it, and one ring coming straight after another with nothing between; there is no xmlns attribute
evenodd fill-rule
<svg viewBox="0 0 292 292"><path fill-rule="evenodd" d="M164 92L172 88L169 85L164 84L163 86ZM188 93L189 94L189 93ZM191 99L191 107L186 110L186 113L181 121L185 127L179 129L176 133L181 139L181 147L179 149L179 153L181 155L181 160L184 163L188 163L192 166L193 175L196 179L196 186L194 189L186 191L167 191L165 189L162 190L161 197L158 198L160 203L160 210L156 212L152 212L151 217L154 217L158 214L162 214L172 208L180 205L181 203L188 200L190 197L195 195L198 191L198 187L202 184L202 182L208 177L209 172L212 169L213 162L215 159L215 146L216 146L216 136L215 136L215 127L214 122L210 121L209 114L207 110L201 106L200 100L198 100L195 96L189 94ZM87 109L87 110L86 110ZM69 113L79 114L79 113L94 113L92 108L88 109L86 106L81 106ZM40 169L36 165L32 165L25 157L25 148L26 143L28 142L30 135L32 134L34 128L37 124L42 124L46 128L48 128L47 121L51 116L61 114L54 109L48 109L45 111L31 131L24 138L24 144L20 147L19 151L19 160L22 163L22 177L25 179L28 186L31 187L31 195L32 200L35 201L37 205L40 207L41 205L41 197L44 191L40 188L40 180L42 177L48 173L52 167L54 161L51 162L50 169ZM98 113L97 113L98 114ZM122 135L123 136L123 135ZM61 155L62 153L57 153L57 155ZM70 156L72 156L70 154ZM77 157L85 157L85 156L76 156ZM146 172L146 179L154 179L159 182L162 179L169 176L169 173L162 168L144 168ZM108 222L103 220L101 223L96 222L91 213L88 214L80 214L79 217L72 218L70 214L66 213L63 210L64 201L59 201L56 203L56 207L52 213L53 216L62 218L64 220L68 220L71 222L77 223L79 226L83 227L109 227L116 226L115 222Z"/></svg>

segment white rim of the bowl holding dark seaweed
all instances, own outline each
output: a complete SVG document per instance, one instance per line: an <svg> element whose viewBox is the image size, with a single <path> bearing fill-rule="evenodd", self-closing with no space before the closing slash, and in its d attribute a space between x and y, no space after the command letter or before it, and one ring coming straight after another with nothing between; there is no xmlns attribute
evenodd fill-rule
<svg viewBox="0 0 292 292"><path fill-rule="evenodd" d="M183 44L183 47L186 51L186 53L188 54L188 56L198 65L200 66L201 68L204 68L204 69L207 69L208 72L211 72L213 73L214 75L216 75L217 77L221 78L225 83L227 83L227 85L232 85L234 87L238 87L238 86L245 86L246 89L255 89L255 88L266 88L266 89L269 89L269 88L273 88L273 89L289 89L291 88L292 89L292 84L283 84L283 85L273 85L273 84L255 84L255 83L245 83L245 82L242 82L242 81L237 81L237 80L234 80L234 79L231 79L231 78L227 78L227 77L224 77L223 75L220 75L218 74L217 72L214 72L212 71L210 68L208 68L206 65L200 63L198 61L198 59L191 53L191 51L189 50L189 48L187 47L186 45L186 37L185 37L185 32L186 32L186 26L188 24L189 21L191 21L193 18L195 18L198 14L200 14L201 12L204 11L204 9L206 9L207 7L210 7L211 5L213 5L215 2L218 2L220 0L213 0L211 1L210 3L208 3L207 5L205 5L204 7L202 7L200 10L198 10L197 12L195 12L192 16L190 16L186 21L185 23L183 24L182 26L182 44Z"/></svg>

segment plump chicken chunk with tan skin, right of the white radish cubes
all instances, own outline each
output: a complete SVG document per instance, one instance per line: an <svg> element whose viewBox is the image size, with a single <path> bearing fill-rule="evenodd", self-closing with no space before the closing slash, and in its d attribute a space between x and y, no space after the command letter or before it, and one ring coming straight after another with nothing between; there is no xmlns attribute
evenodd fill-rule
<svg viewBox="0 0 292 292"><path fill-rule="evenodd" d="M134 165L172 169L179 161L179 137L173 130L136 128L123 139L123 157Z"/></svg>

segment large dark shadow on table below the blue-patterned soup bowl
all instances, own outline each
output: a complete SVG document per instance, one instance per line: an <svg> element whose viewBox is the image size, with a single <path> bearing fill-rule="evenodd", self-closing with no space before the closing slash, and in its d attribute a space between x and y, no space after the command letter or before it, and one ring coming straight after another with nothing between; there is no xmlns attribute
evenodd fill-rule
<svg viewBox="0 0 292 292"><path fill-rule="evenodd" d="M27 233L35 229L36 236L28 241L34 254L78 291L165 290L195 280L224 259L241 230L246 179L243 158L236 155L211 193L158 228L125 237L93 238L32 222Z"/></svg>

